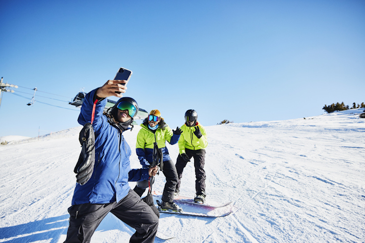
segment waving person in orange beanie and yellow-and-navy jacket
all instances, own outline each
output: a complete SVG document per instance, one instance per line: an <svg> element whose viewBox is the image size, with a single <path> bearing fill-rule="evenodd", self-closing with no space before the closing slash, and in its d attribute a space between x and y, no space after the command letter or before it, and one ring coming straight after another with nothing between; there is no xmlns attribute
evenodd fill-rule
<svg viewBox="0 0 365 243"><path fill-rule="evenodd" d="M139 130L137 135L136 153L143 168L149 168L152 165L155 142L161 151L163 162L159 166L166 177L166 184L162 195L162 210L182 210L173 201L174 192L178 183L178 174L165 144L166 141L171 145L176 144L179 141L181 132L179 127L176 130L171 130L161 117L160 111L155 109L151 110L148 117L143 121L141 130ZM153 181L151 183L153 184ZM148 188L148 181L139 181L134 191L142 196L146 188Z"/></svg>

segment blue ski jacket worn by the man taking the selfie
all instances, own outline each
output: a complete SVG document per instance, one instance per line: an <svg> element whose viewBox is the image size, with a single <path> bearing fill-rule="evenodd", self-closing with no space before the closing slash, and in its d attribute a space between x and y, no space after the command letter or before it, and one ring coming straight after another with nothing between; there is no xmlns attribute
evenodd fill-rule
<svg viewBox="0 0 365 243"><path fill-rule="evenodd" d="M78 122L91 122L93 97L97 89L85 96ZM95 133L95 164L91 179L83 186L76 184L72 205L119 202L129 191L128 181L148 180L148 169L130 170L130 147L122 131L103 115L107 99L96 103L92 126Z"/></svg>

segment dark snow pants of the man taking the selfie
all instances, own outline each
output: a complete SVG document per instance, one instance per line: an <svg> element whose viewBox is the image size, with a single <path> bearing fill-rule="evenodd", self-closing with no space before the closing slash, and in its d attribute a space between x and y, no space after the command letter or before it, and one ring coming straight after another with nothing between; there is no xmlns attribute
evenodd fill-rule
<svg viewBox="0 0 365 243"><path fill-rule="evenodd" d="M90 243L92 234L109 212L136 229L130 243L154 242L159 223L156 214L133 190L119 202L73 205L68 211L70 225L65 243Z"/></svg>

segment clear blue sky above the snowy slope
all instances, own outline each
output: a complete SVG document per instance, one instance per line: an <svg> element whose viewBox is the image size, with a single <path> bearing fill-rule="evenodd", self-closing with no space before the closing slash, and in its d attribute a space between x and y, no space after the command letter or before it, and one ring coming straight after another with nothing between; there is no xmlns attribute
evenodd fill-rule
<svg viewBox="0 0 365 243"><path fill-rule="evenodd" d="M171 128L187 109L210 126L365 102L364 0L1 0L0 11L0 77L19 86L3 93L0 137L78 126L68 102L120 67L133 71L126 96Z"/></svg>

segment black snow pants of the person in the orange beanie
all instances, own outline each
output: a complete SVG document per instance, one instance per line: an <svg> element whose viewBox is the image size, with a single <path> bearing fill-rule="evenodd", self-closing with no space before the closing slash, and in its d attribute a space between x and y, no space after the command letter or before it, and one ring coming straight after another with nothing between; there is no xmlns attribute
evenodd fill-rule
<svg viewBox="0 0 365 243"><path fill-rule="evenodd" d="M176 172L176 167L171 159L164 161L164 176L166 177L166 183L164 187L164 192L162 195L162 201L172 202L174 200L174 192L176 190L176 185L178 184L178 173ZM154 180L152 181L153 184ZM148 181L138 181L136 187L133 189L139 196L145 192L148 188Z"/></svg>

